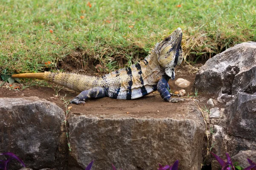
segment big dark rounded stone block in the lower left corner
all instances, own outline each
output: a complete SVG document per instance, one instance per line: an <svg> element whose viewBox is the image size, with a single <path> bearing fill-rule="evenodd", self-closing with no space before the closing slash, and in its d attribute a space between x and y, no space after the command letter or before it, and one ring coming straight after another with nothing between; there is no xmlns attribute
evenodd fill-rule
<svg viewBox="0 0 256 170"><path fill-rule="evenodd" d="M32 169L58 167L63 120L63 110L47 100L0 98L0 153L13 152Z"/></svg>

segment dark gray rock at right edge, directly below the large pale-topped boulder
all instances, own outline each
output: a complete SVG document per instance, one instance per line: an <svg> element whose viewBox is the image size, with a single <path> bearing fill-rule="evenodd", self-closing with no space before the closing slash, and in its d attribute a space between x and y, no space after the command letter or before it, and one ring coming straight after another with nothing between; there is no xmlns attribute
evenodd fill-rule
<svg viewBox="0 0 256 170"><path fill-rule="evenodd" d="M256 94L238 92L227 103L225 112L230 135L256 141Z"/></svg>

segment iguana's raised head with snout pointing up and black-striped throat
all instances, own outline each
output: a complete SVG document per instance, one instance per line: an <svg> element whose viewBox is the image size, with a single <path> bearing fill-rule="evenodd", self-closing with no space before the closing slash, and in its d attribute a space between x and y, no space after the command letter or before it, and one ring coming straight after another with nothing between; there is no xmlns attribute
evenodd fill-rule
<svg viewBox="0 0 256 170"><path fill-rule="evenodd" d="M165 69L165 73L172 79L175 78L175 66L180 65L183 60L181 39L182 31L180 28L177 28L155 47L159 64Z"/></svg>

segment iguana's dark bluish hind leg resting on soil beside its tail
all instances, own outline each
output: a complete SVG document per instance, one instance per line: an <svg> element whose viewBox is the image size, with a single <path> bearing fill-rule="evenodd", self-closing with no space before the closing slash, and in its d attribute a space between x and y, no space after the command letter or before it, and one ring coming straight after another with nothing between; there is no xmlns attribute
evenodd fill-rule
<svg viewBox="0 0 256 170"><path fill-rule="evenodd" d="M89 98L102 98L105 97L107 92L102 87L95 87L89 90L82 91L75 99L72 99L70 103L74 103L76 105L83 104Z"/></svg>

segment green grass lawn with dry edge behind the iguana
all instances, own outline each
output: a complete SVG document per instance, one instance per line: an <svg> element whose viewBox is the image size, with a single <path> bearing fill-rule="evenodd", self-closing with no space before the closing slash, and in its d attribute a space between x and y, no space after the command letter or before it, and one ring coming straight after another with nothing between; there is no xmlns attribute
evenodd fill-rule
<svg viewBox="0 0 256 170"><path fill-rule="evenodd" d="M256 41L255 0L88 2L0 0L1 74L57 68L60 60L111 71L143 58L177 27L189 61Z"/></svg>

